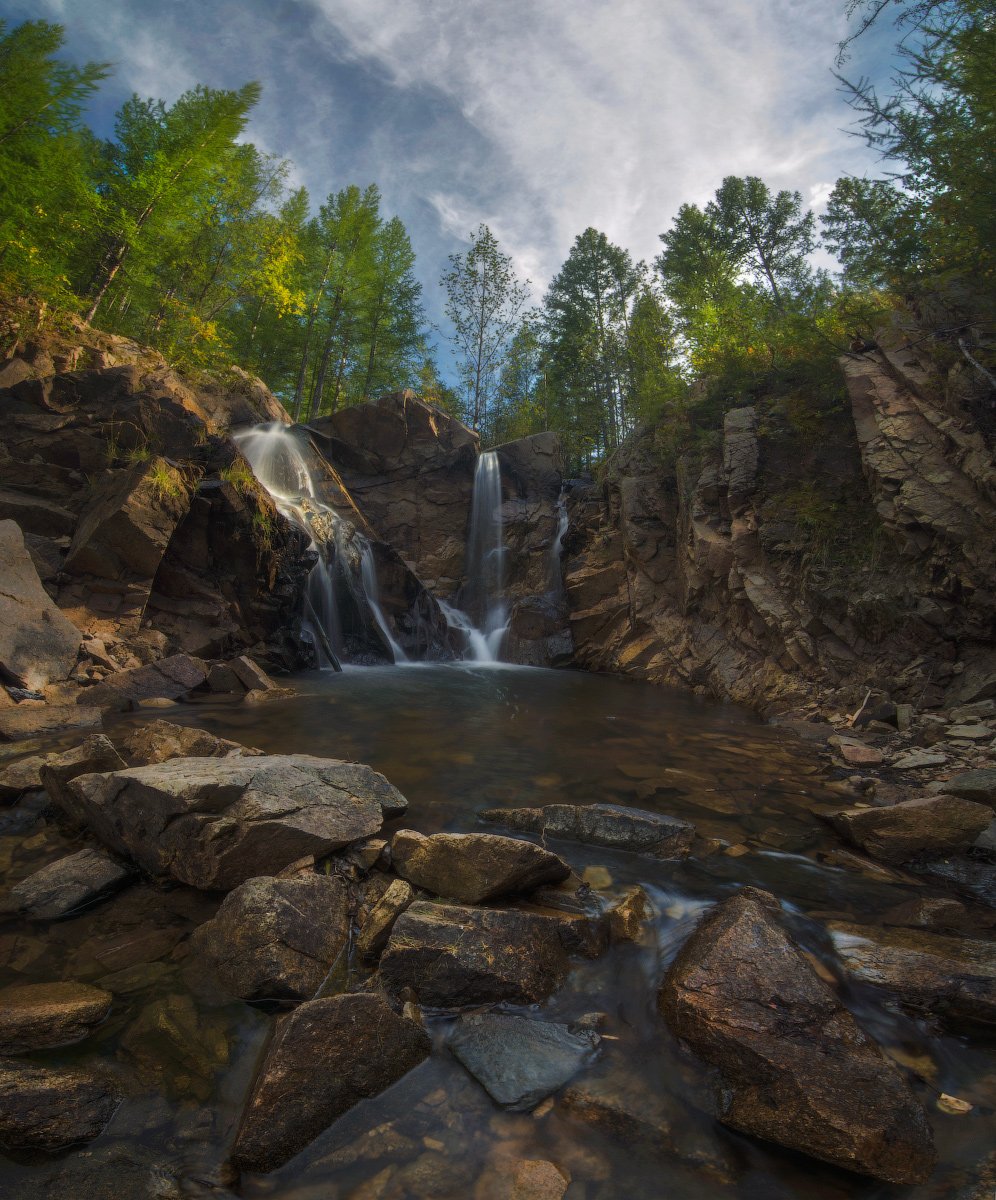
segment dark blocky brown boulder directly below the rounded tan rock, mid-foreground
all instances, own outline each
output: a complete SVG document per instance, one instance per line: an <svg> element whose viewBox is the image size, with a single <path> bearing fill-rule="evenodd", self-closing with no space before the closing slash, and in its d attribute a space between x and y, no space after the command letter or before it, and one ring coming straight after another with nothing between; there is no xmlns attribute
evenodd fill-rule
<svg viewBox="0 0 996 1200"><path fill-rule="evenodd" d="M557 922L514 910L416 901L395 923L380 959L384 985L410 988L439 1008L535 1004L564 982Z"/></svg>

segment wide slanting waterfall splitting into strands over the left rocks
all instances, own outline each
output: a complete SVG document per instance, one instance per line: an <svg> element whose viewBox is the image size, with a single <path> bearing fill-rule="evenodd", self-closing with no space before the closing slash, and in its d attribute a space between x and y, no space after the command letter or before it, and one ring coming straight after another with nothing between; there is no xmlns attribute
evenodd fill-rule
<svg viewBox="0 0 996 1200"><path fill-rule="evenodd" d="M319 665L338 670L337 659L344 644L336 600L337 578L343 580L360 613L372 618L385 653L395 662L407 662L408 656L380 607L373 547L320 500L305 448L293 428L280 422L257 425L234 433L232 439L280 511L307 535L310 548L318 556L308 576L302 624L316 647Z"/></svg>

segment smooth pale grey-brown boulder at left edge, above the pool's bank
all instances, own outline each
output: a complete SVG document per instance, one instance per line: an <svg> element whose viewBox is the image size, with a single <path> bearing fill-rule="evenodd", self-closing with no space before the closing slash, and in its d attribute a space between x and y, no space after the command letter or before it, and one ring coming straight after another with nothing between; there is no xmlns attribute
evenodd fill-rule
<svg viewBox="0 0 996 1200"><path fill-rule="evenodd" d="M13 521L0 521L0 676L30 689L66 679L83 635L42 587Z"/></svg>

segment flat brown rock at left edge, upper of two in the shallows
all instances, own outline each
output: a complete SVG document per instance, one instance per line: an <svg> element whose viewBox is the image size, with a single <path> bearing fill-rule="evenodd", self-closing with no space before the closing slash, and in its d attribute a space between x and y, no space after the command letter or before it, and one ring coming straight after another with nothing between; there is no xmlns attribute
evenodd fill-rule
<svg viewBox="0 0 996 1200"><path fill-rule="evenodd" d="M114 997L85 983L29 983L0 990L0 1054L82 1042L104 1020Z"/></svg>

